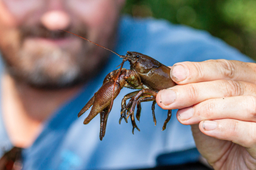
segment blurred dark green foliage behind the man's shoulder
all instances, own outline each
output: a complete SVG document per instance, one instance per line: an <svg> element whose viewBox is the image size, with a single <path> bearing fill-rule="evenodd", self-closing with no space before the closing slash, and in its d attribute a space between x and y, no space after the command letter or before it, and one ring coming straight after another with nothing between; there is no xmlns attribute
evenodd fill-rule
<svg viewBox="0 0 256 170"><path fill-rule="evenodd" d="M204 29L256 59L255 0L126 0L123 12Z"/></svg>

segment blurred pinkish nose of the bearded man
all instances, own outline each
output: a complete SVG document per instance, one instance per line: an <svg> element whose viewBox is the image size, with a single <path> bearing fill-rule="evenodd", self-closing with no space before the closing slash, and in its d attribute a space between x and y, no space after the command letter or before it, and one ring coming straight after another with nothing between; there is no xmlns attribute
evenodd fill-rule
<svg viewBox="0 0 256 170"><path fill-rule="evenodd" d="M50 30L66 29L71 22L70 15L64 11L64 1L48 1L48 10L41 16L43 26Z"/></svg>

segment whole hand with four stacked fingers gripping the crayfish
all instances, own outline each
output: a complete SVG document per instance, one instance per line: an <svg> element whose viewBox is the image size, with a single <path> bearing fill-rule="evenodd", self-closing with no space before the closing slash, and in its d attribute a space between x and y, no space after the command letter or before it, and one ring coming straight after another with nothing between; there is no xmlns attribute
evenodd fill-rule
<svg viewBox="0 0 256 170"><path fill-rule="evenodd" d="M256 169L256 64L234 60L176 63L177 86L157 93L163 109L179 109L195 145L215 169Z"/></svg>

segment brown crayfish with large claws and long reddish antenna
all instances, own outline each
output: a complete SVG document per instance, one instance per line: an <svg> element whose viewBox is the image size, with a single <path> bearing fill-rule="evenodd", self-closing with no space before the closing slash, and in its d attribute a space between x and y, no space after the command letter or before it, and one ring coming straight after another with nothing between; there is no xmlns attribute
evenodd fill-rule
<svg viewBox="0 0 256 170"><path fill-rule="evenodd" d="M73 34L74 36L78 36L72 32L69 33ZM78 37L85 39L81 36ZM92 42L88 39L85 40L87 40L88 42ZM100 46L95 42L92 43ZM107 49L104 46L100 47ZM92 107L90 114L88 114L88 117L85 118L84 124L88 124L97 114L100 114L100 140L102 140L106 132L106 123L109 117L109 112L112 108L113 100L118 96L120 90L123 87L137 89L137 91L128 93L123 97L119 124L121 123L122 119L124 119L127 123L127 118L130 117L133 125L133 131L134 128L137 128L137 130L140 131L134 119L134 110L136 106L136 117L137 120L140 121L140 103L146 101L153 101L152 115L154 124L156 125L157 121L154 115L154 106L156 104L155 98L157 95L157 91L176 85L176 83L171 80L171 69L168 66L164 66L164 64L159 63L156 59L137 52L128 51L125 56L121 56L118 53L112 51L111 49L107 50L115 53L117 56L122 58L123 62L119 70L114 70L105 77L102 87L100 87L100 89L88 101L88 103L85 104L85 107L83 107L78 114L78 117L80 117L82 114L85 113L86 110ZM122 68L123 63L127 60L130 62L130 70ZM129 100L128 104L126 104L126 100ZM164 125L162 128L163 131L166 128L166 125L168 124L168 121L170 121L170 119L171 110L168 110L168 117L164 121Z"/></svg>

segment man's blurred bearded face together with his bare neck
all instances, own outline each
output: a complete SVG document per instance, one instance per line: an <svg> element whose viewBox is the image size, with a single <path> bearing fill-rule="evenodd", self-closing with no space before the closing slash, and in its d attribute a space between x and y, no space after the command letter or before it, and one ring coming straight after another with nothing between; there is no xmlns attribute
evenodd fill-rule
<svg viewBox="0 0 256 170"><path fill-rule="evenodd" d="M106 64L124 0L2 0L2 109L13 145L33 144L42 124ZM3 100L4 99L4 100Z"/></svg>

